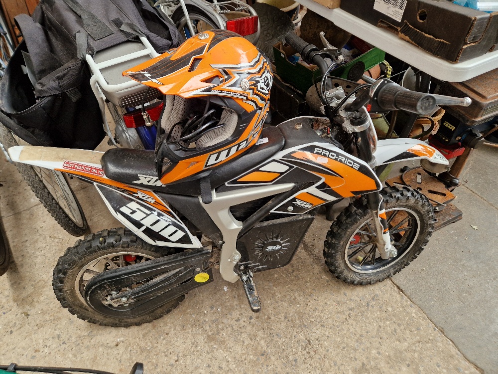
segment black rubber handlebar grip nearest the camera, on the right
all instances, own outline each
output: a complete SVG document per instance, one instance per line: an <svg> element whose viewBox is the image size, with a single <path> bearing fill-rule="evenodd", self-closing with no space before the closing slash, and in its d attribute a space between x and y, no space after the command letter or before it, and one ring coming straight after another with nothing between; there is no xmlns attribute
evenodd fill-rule
<svg viewBox="0 0 498 374"><path fill-rule="evenodd" d="M410 91L395 83L382 87L376 101L384 110L404 110L418 114L431 114L437 105L433 95Z"/></svg>

